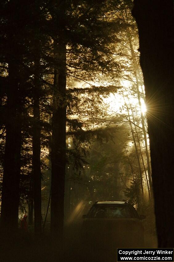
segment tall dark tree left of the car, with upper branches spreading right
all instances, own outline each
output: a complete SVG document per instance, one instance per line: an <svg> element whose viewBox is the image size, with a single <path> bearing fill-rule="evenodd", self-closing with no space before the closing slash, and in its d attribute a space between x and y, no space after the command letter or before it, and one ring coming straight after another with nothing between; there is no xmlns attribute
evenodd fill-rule
<svg viewBox="0 0 174 262"><path fill-rule="evenodd" d="M108 45L113 43L118 27L115 21L107 22L103 15L103 12L107 13L111 6L110 1L106 3L81 1L78 4L76 1L53 1L49 10L51 23L56 28L52 31L54 95L51 147L51 232L59 243L63 237L64 220L66 81L71 74L77 78L81 76L84 80L90 77L92 71L110 71L115 65L115 61L111 60ZM119 23L117 25L119 26Z"/></svg>

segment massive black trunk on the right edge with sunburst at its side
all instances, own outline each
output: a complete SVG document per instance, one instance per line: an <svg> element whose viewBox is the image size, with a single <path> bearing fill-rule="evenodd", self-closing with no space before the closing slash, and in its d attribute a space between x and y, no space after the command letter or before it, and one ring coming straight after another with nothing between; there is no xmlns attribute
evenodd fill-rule
<svg viewBox="0 0 174 262"><path fill-rule="evenodd" d="M134 0L140 38L159 247L174 246L173 1Z"/></svg>

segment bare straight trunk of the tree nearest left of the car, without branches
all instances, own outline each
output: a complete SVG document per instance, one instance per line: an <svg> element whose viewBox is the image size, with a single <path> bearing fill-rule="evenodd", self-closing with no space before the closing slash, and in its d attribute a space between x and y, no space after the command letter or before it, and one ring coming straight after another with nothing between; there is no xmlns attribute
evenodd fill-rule
<svg viewBox="0 0 174 262"><path fill-rule="evenodd" d="M62 243L64 221L64 187L66 168L66 43L59 35L54 41L54 98L51 147L51 234Z"/></svg>

